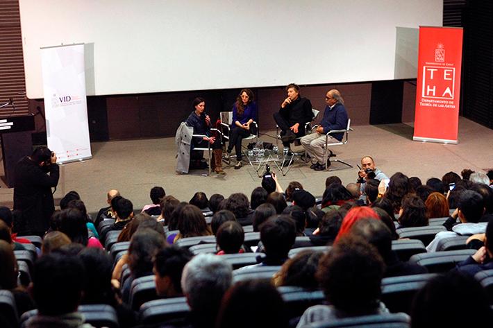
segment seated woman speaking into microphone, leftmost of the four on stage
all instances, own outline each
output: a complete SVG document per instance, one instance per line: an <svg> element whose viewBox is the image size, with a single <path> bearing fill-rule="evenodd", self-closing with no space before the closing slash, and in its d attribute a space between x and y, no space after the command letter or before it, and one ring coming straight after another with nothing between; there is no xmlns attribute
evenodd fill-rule
<svg viewBox="0 0 493 328"><path fill-rule="evenodd" d="M217 174L224 174L222 169L222 145L221 141L213 137L210 131L211 123L210 116L206 114L206 100L201 97L194 99L193 103L194 111L188 116L187 126L194 129L194 135L205 135L206 137L195 137L192 139L192 150L194 148L207 148L207 143L210 143L212 151L214 153L214 171ZM195 153L195 154L194 154ZM190 156L190 167L192 169L204 169L199 164L203 159L203 153L194 152Z"/></svg>

